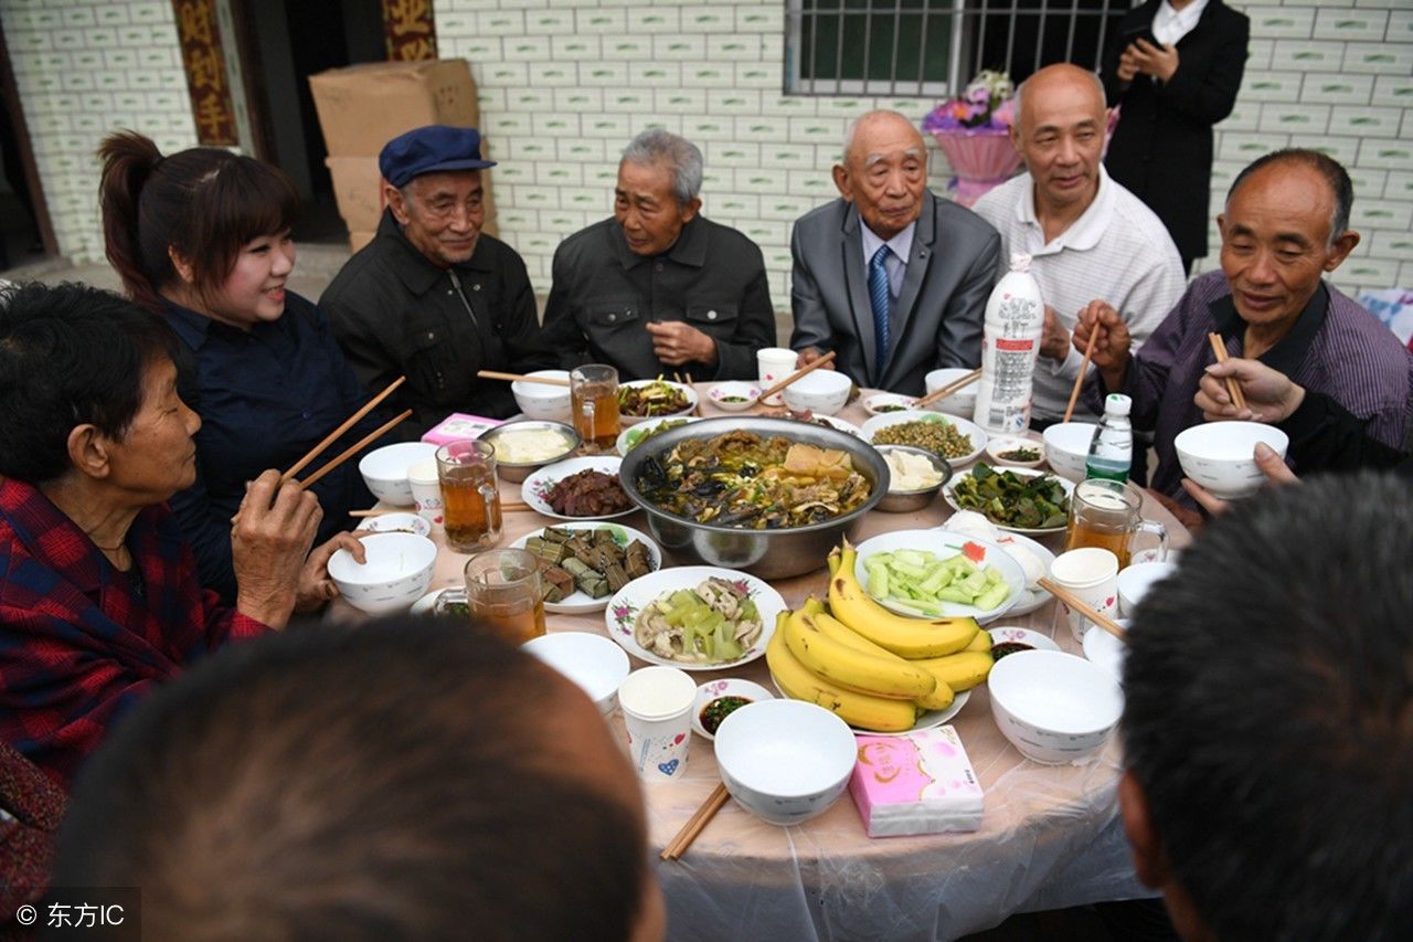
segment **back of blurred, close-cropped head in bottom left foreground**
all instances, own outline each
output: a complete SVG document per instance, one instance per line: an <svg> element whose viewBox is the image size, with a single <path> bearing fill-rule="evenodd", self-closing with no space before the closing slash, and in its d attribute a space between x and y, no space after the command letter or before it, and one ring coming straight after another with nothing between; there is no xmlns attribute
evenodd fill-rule
<svg viewBox="0 0 1413 942"><path fill-rule="evenodd" d="M141 887L144 938L616 942L656 894L640 801L530 655L463 621L307 627L120 727L54 885Z"/></svg>

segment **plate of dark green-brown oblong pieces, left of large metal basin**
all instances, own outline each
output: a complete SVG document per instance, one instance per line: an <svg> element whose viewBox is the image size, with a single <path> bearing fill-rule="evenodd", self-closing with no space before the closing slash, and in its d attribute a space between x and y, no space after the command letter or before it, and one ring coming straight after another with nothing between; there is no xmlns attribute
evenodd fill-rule
<svg viewBox="0 0 1413 942"><path fill-rule="evenodd" d="M562 615L602 611L613 593L663 564L663 552L647 533L619 523L560 523L510 546L540 559L544 610Z"/></svg>

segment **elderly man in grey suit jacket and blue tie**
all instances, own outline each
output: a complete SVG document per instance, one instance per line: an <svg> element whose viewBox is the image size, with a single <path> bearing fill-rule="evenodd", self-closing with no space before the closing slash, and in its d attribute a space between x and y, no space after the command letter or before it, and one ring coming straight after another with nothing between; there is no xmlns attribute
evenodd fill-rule
<svg viewBox="0 0 1413 942"><path fill-rule="evenodd" d="M790 238L800 365L832 349L861 386L918 396L928 371L981 364L1000 236L927 190L911 122L882 110L853 122L834 184L839 199L797 219Z"/></svg>

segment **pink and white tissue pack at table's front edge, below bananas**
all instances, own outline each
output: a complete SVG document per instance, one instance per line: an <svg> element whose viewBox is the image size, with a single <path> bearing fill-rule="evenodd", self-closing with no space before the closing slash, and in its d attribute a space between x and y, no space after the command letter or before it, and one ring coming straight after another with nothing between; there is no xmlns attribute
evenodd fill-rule
<svg viewBox="0 0 1413 942"><path fill-rule="evenodd" d="M869 837L978 830L982 791L957 730L858 735L849 793Z"/></svg>

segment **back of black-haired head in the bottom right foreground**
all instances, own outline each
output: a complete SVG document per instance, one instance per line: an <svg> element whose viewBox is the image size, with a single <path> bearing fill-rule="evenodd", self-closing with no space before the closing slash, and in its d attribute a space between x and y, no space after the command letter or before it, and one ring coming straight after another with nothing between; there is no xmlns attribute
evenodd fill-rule
<svg viewBox="0 0 1413 942"><path fill-rule="evenodd" d="M1313 478L1139 607L1123 818L1187 938L1413 938L1410 550L1406 481Z"/></svg>

